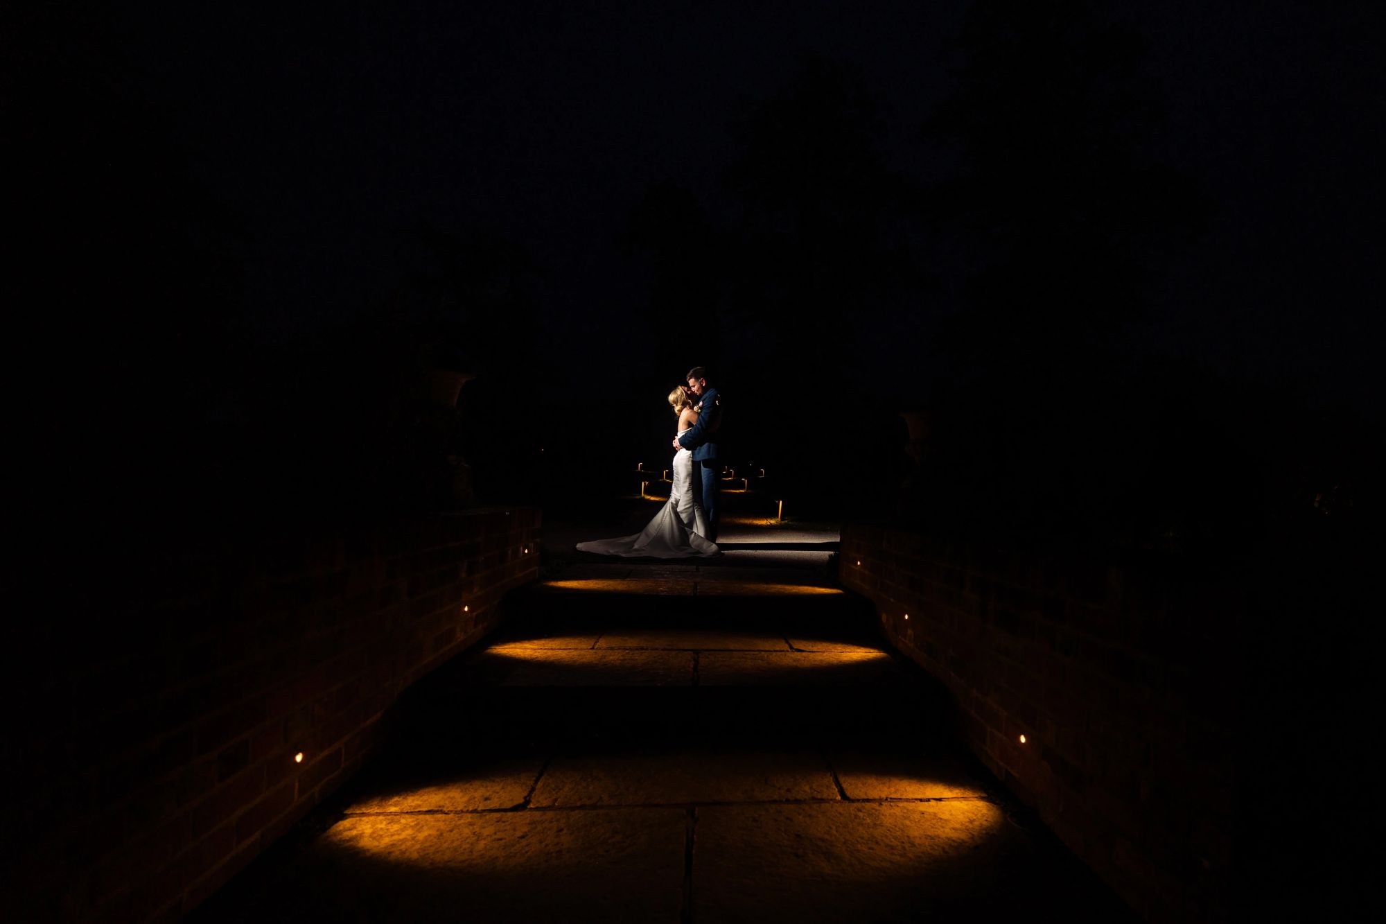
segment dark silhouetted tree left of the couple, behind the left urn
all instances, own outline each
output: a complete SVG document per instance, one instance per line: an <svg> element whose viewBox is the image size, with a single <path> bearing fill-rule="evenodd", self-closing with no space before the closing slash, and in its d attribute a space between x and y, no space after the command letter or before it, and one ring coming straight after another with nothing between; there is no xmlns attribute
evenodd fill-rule
<svg viewBox="0 0 1386 924"><path fill-rule="evenodd" d="M385 373L377 384L389 402L388 427L362 447L377 456L380 490L396 502L435 505L437 481L450 477L445 462L466 459L481 499L520 499L552 426L543 370L534 365L542 272L520 244L489 232L419 225L401 244L395 294L352 326ZM435 369L475 376L453 411L420 400Z"/></svg>

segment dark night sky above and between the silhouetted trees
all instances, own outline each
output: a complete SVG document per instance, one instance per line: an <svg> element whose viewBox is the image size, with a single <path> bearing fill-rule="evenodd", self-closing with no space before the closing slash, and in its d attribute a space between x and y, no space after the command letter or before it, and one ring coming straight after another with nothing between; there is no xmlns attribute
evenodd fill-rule
<svg viewBox="0 0 1386 924"><path fill-rule="evenodd" d="M801 54L861 74L886 112L893 168L923 183L945 169L919 125L948 89L940 51L963 4L802 7L144 4L122 46L173 114L195 175L252 229L254 326L310 330L378 298L399 272L402 228L482 228L542 268L539 355L581 344L615 384L650 337L631 323L646 280L615 243L629 209L661 179L725 209L730 117L790 80ZM1382 289L1380 15L1119 7L1146 40L1166 110L1153 140L1214 201L1204 243L1163 280L1149 341L1234 373L1365 388L1368 305ZM866 339L859 365L911 369L915 339L898 332L927 336L947 291L912 302L922 327L900 305L865 307L890 336ZM893 391L908 384L877 375Z"/></svg>

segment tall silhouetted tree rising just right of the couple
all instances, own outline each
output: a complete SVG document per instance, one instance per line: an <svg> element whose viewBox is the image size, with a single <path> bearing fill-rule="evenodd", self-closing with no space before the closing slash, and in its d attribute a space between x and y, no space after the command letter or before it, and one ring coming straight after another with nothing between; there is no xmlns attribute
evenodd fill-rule
<svg viewBox="0 0 1386 924"><path fill-rule="evenodd" d="M862 311L920 284L900 233L918 197L884 161L884 129L862 78L825 57L804 58L786 86L733 121L729 348L740 347L747 397L764 413L755 431L784 454L762 451L762 461L797 470L798 497L888 490L890 479L863 473L894 448L877 438L894 437L894 408L877 407L851 368ZM804 462L812 420L832 422L840 474Z"/></svg>

